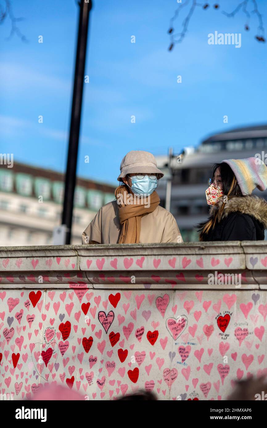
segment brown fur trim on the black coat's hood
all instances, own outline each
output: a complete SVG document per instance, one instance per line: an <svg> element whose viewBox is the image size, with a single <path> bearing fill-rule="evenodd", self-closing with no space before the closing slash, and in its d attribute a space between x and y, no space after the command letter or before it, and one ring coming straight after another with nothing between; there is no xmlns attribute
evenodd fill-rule
<svg viewBox="0 0 267 428"><path fill-rule="evenodd" d="M210 215L213 216L223 204L223 196L218 200L216 205L213 205L210 209ZM248 214L254 217L260 223L264 225L264 229L267 229L267 202L265 199L255 195L247 196L233 196L226 202L222 218L228 216L228 214L239 212L241 214Z"/></svg>

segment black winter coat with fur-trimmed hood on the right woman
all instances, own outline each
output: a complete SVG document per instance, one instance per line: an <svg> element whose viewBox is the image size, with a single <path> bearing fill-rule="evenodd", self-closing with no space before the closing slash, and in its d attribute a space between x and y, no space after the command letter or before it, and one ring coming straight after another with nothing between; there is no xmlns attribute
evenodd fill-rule
<svg viewBox="0 0 267 428"><path fill-rule="evenodd" d="M211 208L211 217L222 204ZM260 241L267 229L267 202L258 196L234 196L225 204L222 219L203 235L203 241Z"/></svg>

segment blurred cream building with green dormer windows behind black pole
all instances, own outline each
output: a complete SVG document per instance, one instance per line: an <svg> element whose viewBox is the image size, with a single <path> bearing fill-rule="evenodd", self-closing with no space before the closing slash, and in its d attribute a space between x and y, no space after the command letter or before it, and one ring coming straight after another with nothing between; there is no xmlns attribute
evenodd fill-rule
<svg viewBox="0 0 267 428"><path fill-rule="evenodd" d="M61 224L64 175L14 163L0 166L0 246L51 245ZM77 178L72 222L72 244L99 208L114 199L114 187Z"/></svg>

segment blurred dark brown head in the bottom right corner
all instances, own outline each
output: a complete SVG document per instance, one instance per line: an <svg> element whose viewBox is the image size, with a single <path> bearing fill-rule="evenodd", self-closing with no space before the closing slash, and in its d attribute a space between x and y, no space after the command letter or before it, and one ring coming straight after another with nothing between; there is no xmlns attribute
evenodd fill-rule
<svg viewBox="0 0 267 428"><path fill-rule="evenodd" d="M266 376L261 376L259 379L249 377L246 380L237 382L236 387L228 400L238 401L256 401L267 399L267 382Z"/></svg>

